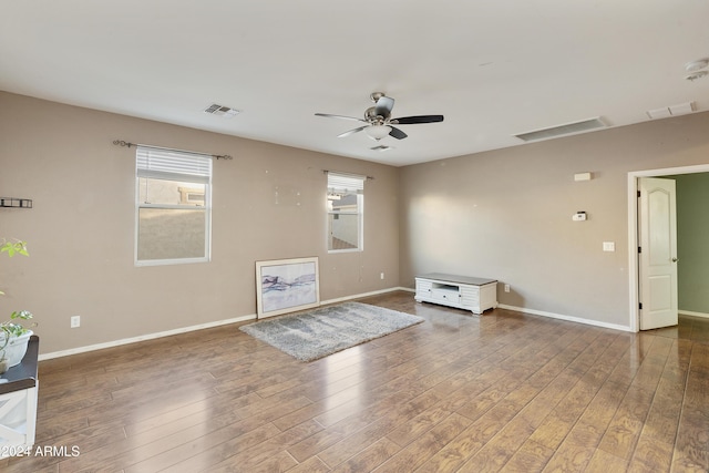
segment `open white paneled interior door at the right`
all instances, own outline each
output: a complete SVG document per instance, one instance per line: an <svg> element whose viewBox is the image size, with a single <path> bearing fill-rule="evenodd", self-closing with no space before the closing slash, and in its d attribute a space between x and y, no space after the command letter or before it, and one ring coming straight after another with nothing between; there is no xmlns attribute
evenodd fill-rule
<svg viewBox="0 0 709 473"><path fill-rule="evenodd" d="M640 330L677 325L677 200L675 181L639 179Z"/></svg>

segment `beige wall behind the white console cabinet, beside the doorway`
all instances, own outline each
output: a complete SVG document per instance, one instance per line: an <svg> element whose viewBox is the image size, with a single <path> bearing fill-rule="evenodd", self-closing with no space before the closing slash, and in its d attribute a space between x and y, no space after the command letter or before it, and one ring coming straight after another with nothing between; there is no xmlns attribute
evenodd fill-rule
<svg viewBox="0 0 709 473"><path fill-rule="evenodd" d="M628 173L709 163L708 131L701 113L402 168L402 286L489 277L503 305L628 327Z"/></svg>

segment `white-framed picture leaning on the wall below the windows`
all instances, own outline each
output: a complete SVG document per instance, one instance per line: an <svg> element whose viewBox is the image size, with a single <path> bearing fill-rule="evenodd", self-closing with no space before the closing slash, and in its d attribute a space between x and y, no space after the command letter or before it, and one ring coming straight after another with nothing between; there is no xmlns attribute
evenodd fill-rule
<svg viewBox="0 0 709 473"><path fill-rule="evenodd" d="M256 261L258 319L320 306L318 257Z"/></svg>

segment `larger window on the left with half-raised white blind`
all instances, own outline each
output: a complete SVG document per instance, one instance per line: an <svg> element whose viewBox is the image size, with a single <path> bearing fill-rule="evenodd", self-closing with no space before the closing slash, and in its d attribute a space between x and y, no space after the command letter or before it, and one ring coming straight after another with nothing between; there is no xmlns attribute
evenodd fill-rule
<svg viewBox="0 0 709 473"><path fill-rule="evenodd" d="M135 264L208 261L212 160L138 146L135 169Z"/></svg>

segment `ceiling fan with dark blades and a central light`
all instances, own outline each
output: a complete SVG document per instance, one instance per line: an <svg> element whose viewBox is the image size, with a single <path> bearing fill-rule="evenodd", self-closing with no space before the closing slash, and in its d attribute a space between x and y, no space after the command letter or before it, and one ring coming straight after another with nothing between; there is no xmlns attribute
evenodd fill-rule
<svg viewBox="0 0 709 473"><path fill-rule="evenodd" d="M363 120L356 119L353 116L331 115L329 113L316 113L316 115L331 119L354 120L357 122L364 123L362 126L339 134L338 137L345 137L364 131L369 137L377 141L388 135L393 136L397 140L403 140L408 136L404 132L392 125L413 125L417 123L435 123L443 121L443 115L418 115L392 119L391 110L394 106L394 100L392 97L384 95L383 92L372 92L370 99L374 102L374 106L370 106L364 111Z"/></svg>

